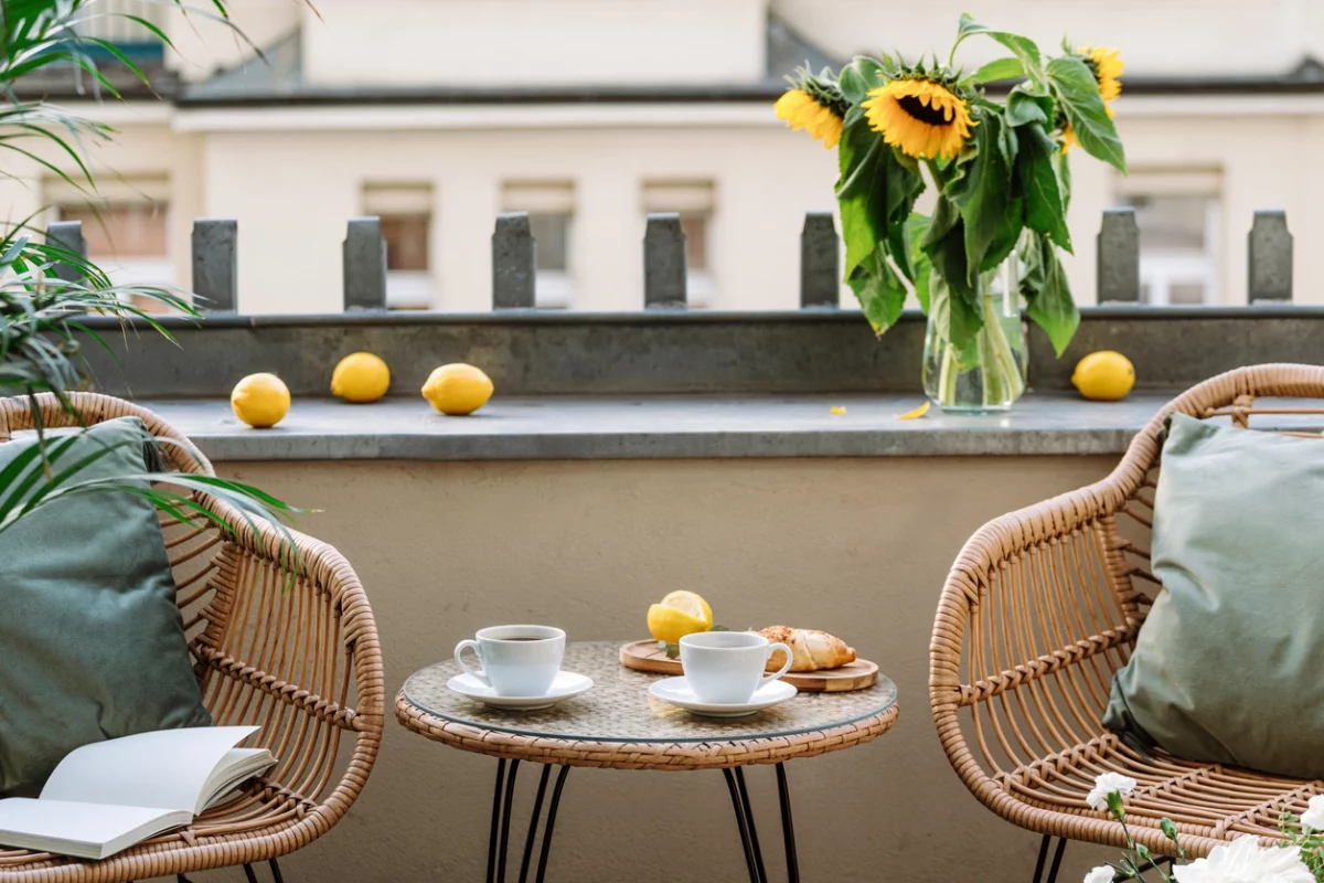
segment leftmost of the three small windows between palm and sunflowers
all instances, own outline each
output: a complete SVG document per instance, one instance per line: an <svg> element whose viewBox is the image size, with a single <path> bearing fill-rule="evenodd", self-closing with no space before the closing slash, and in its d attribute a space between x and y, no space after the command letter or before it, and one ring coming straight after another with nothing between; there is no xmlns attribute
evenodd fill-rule
<svg viewBox="0 0 1324 883"><path fill-rule="evenodd" d="M363 213L381 218L387 241L387 307L429 310L432 282L432 184L365 184Z"/></svg>

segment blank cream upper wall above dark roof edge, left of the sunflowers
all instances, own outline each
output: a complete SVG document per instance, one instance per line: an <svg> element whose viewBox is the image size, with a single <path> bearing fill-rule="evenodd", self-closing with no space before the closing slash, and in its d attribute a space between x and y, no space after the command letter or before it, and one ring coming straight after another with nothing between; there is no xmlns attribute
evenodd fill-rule
<svg viewBox="0 0 1324 883"><path fill-rule="evenodd" d="M318 0L324 86L757 82L767 0Z"/></svg>

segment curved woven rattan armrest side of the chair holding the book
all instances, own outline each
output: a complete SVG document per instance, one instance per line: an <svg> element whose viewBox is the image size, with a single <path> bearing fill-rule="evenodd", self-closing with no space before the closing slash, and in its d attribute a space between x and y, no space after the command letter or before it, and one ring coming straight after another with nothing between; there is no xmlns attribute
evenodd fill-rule
<svg viewBox="0 0 1324 883"><path fill-rule="evenodd" d="M381 741L381 647L367 594L335 548L205 500L230 536L191 641L218 724L260 724L278 764L267 778L330 827L357 797ZM342 736L354 740L332 784Z"/></svg>

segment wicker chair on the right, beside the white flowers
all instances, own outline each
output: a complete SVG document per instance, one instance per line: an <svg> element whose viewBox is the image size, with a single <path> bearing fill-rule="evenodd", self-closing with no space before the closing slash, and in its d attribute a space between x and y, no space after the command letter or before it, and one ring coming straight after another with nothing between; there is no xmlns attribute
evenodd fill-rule
<svg viewBox="0 0 1324 883"><path fill-rule="evenodd" d="M1158 829L1165 815L1194 858L1247 833L1276 838L1282 810L1300 813L1324 792L1320 781L1144 757L1099 723L1158 588L1147 549L1164 418L1182 412L1249 428L1256 413L1324 414L1256 408L1262 397L1324 398L1324 368L1239 368L1189 389L1106 479L989 522L952 567L929 649L933 720L967 788L1043 835L1041 871L1050 837L1063 838L1057 860L1066 839L1125 845L1121 826L1086 805L1102 772L1137 780L1128 827L1158 855L1173 851Z"/></svg>

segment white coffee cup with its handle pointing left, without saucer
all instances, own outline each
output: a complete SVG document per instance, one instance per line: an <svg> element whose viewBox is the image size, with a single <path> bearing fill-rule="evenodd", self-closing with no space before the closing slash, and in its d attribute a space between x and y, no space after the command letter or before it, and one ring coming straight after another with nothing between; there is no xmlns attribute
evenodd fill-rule
<svg viewBox="0 0 1324 883"><path fill-rule="evenodd" d="M494 625L479 629L477 641L455 645L455 665L496 691L498 696L545 696L561 670L565 633L549 625ZM482 665L470 669L461 658L473 649Z"/></svg>

